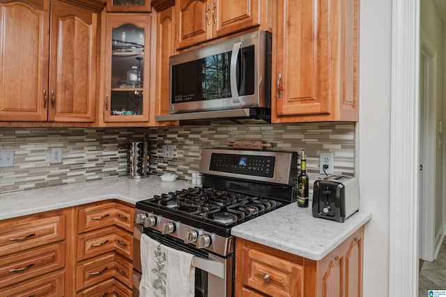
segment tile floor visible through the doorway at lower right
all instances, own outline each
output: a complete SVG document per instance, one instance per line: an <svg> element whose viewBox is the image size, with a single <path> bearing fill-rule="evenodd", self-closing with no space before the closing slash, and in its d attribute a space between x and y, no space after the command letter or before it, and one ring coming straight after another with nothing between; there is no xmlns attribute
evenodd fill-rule
<svg viewBox="0 0 446 297"><path fill-rule="evenodd" d="M418 281L418 297L428 297L428 290L446 290L446 238L438 257L433 262L424 261Z"/></svg>

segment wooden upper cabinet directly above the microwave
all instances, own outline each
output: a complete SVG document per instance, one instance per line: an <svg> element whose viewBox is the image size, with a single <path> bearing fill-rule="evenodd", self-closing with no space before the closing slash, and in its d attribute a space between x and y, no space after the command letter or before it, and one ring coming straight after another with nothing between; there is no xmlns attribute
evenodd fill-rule
<svg viewBox="0 0 446 297"><path fill-rule="evenodd" d="M178 48L258 27L270 17L269 0L179 0Z"/></svg>

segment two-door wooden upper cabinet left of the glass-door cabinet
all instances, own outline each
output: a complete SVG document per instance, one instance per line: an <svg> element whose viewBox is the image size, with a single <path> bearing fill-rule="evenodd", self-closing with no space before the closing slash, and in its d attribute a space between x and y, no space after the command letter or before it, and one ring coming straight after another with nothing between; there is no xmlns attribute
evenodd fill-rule
<svg viewBox="0 0 446 297"><path fill-rule="evenodd" d="M95 121L100 0L0 0L0 121Z"/></svg>

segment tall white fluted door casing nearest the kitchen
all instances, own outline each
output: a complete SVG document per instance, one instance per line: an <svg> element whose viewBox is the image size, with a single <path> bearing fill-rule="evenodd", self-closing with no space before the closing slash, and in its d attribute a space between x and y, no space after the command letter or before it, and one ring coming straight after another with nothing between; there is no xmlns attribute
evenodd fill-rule
<svg viewBox="0 0 446 297"><path fill-rule="evenodd" d="M418 295L419 68L420 0L392 0L388 296Z"/></svg>

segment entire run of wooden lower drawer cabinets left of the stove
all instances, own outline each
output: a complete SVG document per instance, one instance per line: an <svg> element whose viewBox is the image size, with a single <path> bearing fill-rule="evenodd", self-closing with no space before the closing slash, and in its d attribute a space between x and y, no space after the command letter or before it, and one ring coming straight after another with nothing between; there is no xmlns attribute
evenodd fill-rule
<svg viewBox="0 0 446 297"><path fill-rule="evenodd" d="M0 220L0 296L132 296L133 210L107 200Z"/></svg>

